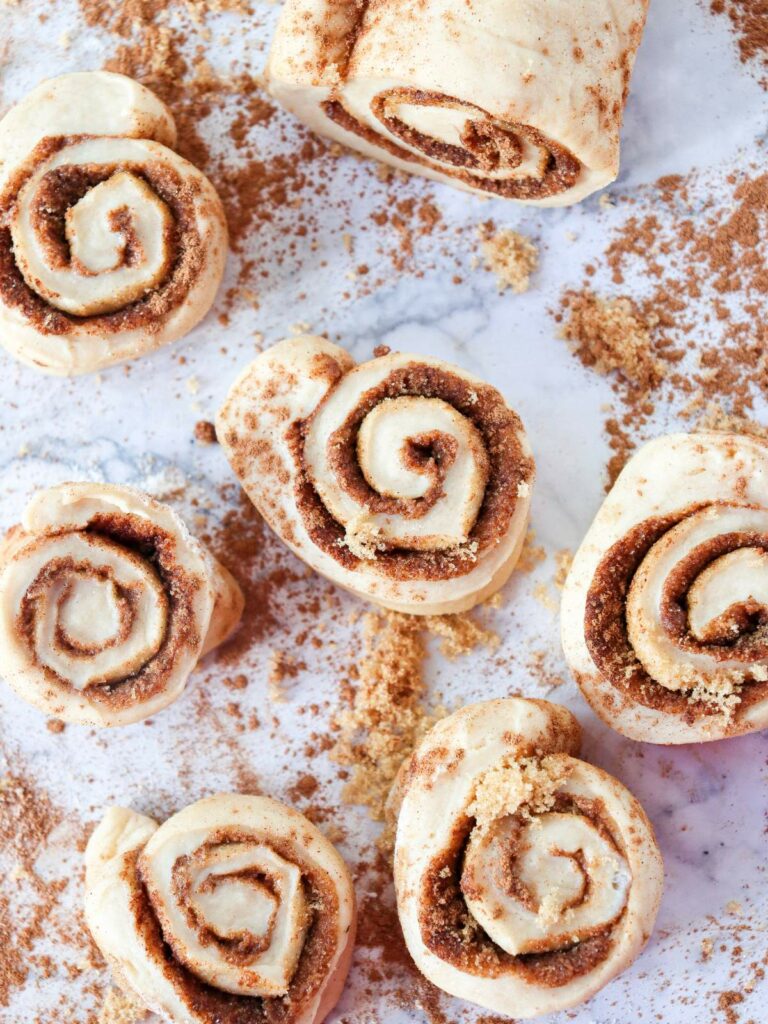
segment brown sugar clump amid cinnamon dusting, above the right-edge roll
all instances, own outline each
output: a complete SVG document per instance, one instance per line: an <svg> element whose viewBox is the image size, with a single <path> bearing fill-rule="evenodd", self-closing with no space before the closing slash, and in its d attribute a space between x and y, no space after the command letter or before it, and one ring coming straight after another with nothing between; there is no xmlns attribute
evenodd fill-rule
<svg viewBox="0 0 768 1024"><path fill-rule="evenodd" d="M589 289L568 293L563 307L561 337L585 367L599 374L617 373L642 391L658 387L665 370L653 354L656 317L643 317L627 296L602 299Z"/></svg>

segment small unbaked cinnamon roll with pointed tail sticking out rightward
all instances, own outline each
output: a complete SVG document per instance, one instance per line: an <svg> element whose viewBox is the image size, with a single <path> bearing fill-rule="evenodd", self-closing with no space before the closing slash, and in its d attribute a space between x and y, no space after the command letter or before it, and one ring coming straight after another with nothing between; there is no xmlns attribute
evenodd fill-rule
<svg viewBox="0 0 768 1024"><path fill-rule="evenodd" d="M224 566L131 487L42 490L0 544L0 675L67 722L127 725L166 708L242 611Z"/></svg>

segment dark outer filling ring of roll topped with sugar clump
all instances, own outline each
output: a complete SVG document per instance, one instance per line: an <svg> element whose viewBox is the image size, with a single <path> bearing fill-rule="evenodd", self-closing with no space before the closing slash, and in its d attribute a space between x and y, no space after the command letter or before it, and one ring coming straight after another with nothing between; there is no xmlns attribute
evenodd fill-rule
<svg viewBox="0 0 768 1024"><path fill-rule="evenodd" d="M602 802L557 794L553 810L583 814L601 836L623 852L610 830ZM427 948L467 974L501 978L515 974L531 985L558 988L594 971L611 950L613 932L624 911L612 922L563 949L513 955L497 945L477 924L464 901L463 861L474 819L457 822L451 842L430 862L421 883L419 928ZM516 887L510 883L512 891Z"/></svg>

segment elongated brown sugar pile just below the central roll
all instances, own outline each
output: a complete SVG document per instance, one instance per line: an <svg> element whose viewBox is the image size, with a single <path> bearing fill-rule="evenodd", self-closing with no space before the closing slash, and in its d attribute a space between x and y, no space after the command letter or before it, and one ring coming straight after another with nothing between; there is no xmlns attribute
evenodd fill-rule
<svg viewBox="0 0 768 1024"><path fill-rule="evenodd" d="M424 707L424 633L415 615L368 612L364 654L349 710L337 718L339 737L331 757L352 769L344 800L368 807L377 820L397 770L434 716Z"/></svg>

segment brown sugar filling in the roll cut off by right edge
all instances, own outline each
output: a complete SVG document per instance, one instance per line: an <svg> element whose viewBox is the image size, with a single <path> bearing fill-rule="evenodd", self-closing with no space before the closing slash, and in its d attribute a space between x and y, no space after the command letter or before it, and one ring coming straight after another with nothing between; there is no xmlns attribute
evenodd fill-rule
<svg viewBox="0 0 768 1024"><path fill-rule="evenodd" d="M630 642L627 630L627 595L635 573L653 545L687 515L699 511L694 506L668 516L639 523L603 556L595 571L585 609L585 640L603 678L636 703L654 711L679 715L687 723L702 715L715 715L718 708L692 700L686 691L676 691L657 683L643 668ZM756 612L745 605L733 609L743 632L716 642L702 643L688 632L686 595L690 585L707 565L730 551L758 547L768 551L768 538L758 535L724 534L699 545L676 565L665 583L660 623L681 652L703 653L715 660L753 662L768 655L768 627L765 610ZM740 614L739 614L740 613ZM740 620L740 622L739 622ZM768 681L746 679L740 702L733 712L738 719L753 703L768 697Z"/></svg>

